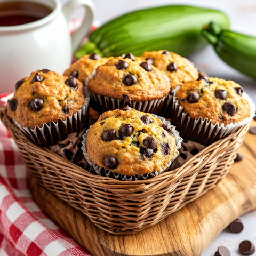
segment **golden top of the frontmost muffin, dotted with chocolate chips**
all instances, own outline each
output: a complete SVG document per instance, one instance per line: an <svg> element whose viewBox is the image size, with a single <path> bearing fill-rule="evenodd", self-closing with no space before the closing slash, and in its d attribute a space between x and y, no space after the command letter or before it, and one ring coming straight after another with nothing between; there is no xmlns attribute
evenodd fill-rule
<svg viewBox="0 0 256 256"><path fill-rule="evenodd" d="M106 170L123 175L159 171L176 148L171 126L131 107L103 113L86 139L87 153Z"/></svg>

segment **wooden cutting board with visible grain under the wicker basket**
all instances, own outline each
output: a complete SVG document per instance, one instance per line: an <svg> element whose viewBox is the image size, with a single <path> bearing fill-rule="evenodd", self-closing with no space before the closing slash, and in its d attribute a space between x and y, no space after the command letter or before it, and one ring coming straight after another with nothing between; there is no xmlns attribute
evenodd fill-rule
<svg viewBox="0 0 256 256"><path fill-rule="evenodd" d="M229 223L256 209L256 135L246 134L239 153L243 161L234 163L219 185L135 235L110 235L32 177L29 183L41 209L94 256L199 256Z"/></svg>

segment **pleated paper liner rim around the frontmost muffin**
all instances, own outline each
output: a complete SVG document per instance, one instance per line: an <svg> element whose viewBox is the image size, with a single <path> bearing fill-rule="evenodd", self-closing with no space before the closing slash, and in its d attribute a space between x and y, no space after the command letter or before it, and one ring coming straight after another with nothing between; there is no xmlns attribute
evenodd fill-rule
<svg viewBox="0 0 256 256"><path fill-rule="evenodd" d="M167 169L169 169L172 162L179 155L179 150L181 148L181 142L182 142L183 139L180 137L179 132L176 130L176 127L174 125L171 125L171 123L169 121L166 121L165 118L159 117L159 116L154 115L154 114L152 114L152 116L161 119L161 121L165 125L170 125L172 127L172 132L173 132L173 135L176 139L176 148L175 148L175 151L174 151L174 156L173 156L172 159L170 159L169 163L166 163L158 171L154 171L154 172L150 172L150 173L146 173L146 174L140 174L140 175L131 175L131 176L122 175L121 173L115 173L113 170L106 170L104 167L100 167L99 165L90 161L89 155L87 153L86 138L87 138L87 135L88 135L88 133L89 133L91 127L92 127L92 125L91 125L90 128L83 135L82 150L83 150L84 157L85 157L86 161L89 163L89 165L91 166L91 169L94 171L94 174L114 178L116 180L134 181L134 180L146 180L146 179L149 179L149 178L156 177L157 175L159 175L159 174L163 173L164 171L166 171Z"/></svg>

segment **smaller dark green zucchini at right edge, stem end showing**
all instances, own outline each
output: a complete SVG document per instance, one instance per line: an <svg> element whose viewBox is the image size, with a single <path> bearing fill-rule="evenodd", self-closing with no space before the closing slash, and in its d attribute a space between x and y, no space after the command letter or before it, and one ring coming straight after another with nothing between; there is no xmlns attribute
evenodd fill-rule
<svg viewBox="0 0 256 256"><path fill-rule="evenodd" d="M214 22L205 26L203 35L219 57L231 67L256 78L256 38L223 30Z"/></svg>

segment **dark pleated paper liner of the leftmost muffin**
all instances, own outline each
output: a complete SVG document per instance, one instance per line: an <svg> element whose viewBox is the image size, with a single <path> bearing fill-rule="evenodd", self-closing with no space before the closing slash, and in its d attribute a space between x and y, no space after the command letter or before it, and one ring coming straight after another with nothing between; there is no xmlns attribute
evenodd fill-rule
<svg viewBox="0 0 256 256"><path fill-rule="evenodd" d="M65 140L69 134L79 133L86 127L89 120L89 103L90 98L86 97L84 105L75 114L64 121L59 119L56 123L53 121L44 123L42 127L37 125L34 129L31 129L30 127L22 127L16 121L14 122L35 144L41 147L50 147L56 145L59 141Z"/></svg>

